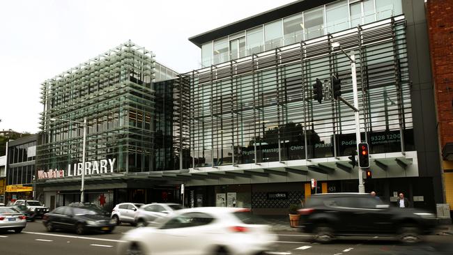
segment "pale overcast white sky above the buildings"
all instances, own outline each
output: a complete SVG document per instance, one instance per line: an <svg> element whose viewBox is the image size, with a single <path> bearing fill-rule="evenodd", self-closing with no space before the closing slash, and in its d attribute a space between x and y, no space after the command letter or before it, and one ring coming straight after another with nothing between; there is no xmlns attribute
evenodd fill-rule
<svg viewBox="0 0 453 255"><path fill-rule="evenodd" d="M292 1L0 1L0 130L39 132L40 85L123 42L189 72L201 49L187 38Z"/></svg>

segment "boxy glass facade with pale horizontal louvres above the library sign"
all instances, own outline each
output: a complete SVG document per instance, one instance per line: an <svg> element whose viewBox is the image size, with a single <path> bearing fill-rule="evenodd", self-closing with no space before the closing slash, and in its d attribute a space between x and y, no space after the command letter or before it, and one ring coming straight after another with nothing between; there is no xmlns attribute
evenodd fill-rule
<svg viewBox="0 0 453 255"><path fill-rule="evenodd" d="M153 171L154 75L153 54L126 42L43 83L37 169L82 162L86 117L86 162L116 160L114 171Z"/></svg>

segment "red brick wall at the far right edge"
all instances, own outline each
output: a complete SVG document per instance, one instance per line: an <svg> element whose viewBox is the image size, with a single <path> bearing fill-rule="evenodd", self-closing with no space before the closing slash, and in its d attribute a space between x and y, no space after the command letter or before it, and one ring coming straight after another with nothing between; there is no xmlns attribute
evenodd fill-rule
<svg viewBox="0 0 453 255"><path fill-rule="evenodd" d="M440 148L453 142L453 1L428 0L427 22Z"/></svg>

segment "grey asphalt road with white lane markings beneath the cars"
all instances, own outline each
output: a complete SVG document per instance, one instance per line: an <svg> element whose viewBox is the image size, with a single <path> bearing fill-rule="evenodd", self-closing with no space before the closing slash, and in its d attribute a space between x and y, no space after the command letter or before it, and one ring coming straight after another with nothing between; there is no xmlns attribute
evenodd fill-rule
<svg viewBox="0 0 453 255"><path fill-rule="evenodd" d="M0 254L8 255L112 255L116 245L132 226L117 226L112 233L76 235L71 232L45 231L40 221L29 222L22 233L0 233ZM403 245L392 238L341 238L329 245L312 241L310 235L278 231L279 254L361 255L361 254L453 254L452 235L429 235L417 245ZM277 254L277 253L276 253Z"/></svg>

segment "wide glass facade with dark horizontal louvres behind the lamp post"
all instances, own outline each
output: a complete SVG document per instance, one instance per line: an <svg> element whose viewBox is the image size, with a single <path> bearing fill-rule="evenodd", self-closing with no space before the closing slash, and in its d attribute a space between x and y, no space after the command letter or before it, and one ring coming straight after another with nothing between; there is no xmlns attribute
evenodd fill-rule
<svg viewBox="0 0 453 255"><path fill-rule="evenodd" d="M344 4L330 10L337 8L344 11ZM318 33L320 10L304 16L312 15L304 23L306 34ZM353 102L351 65L342 52L332 51L333 41L354 51L360 129L371 153L413 150L406 32L399 17L185 75L192 81L194 167L351 155L354 113L330 99L329 85L338 73L341 96ZM313 100L316 79L323 83L321 104Z"/></svg>

